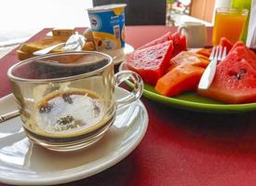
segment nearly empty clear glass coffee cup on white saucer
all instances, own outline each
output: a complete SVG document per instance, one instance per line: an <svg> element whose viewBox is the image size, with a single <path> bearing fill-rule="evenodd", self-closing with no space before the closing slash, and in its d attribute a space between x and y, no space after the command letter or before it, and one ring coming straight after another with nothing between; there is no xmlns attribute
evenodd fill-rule
<svg viewBox="0 0 256 186"><path fill-rule="evenodd" d="M21 61L8 70L26 135L55 151L72 151L100 140L115 121L116 107L138 100L137 73L114 74L110 56L66 52ZM128 97L115 100L115 86L132 80Z"/></svg>

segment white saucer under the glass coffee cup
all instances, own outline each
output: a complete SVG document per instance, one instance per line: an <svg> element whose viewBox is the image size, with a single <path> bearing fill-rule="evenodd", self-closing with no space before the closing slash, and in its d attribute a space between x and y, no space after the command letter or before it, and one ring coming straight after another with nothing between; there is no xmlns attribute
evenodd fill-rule
<svg viewBox="0 0 256 186"><path fill-rule="evenodd" d="M128 95L116 88L115 97ZM16 109L13 95L0 99L0 114ZM5 108L5 111L4 109ZM140 100L117 110L114 125L88 149L58 153L34 145L25 137L20 117L0 124L0 182L49 185L84 179L124 159L141 142L148 114Z"/></svg>

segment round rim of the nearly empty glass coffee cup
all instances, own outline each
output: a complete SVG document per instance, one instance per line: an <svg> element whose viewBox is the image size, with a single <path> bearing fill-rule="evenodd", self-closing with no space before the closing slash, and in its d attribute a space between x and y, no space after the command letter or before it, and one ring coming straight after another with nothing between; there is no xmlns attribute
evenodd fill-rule
<svg viewBox="0 0 256 186"><path fill-rule="evenodd" d="M18 77L16 75L13 74L13 70L17 67L19 67L21 64L26 63L26 62L31 62L33 60L38 60L38 59L47 59L47 58L52 58L52 57L57 57L57 56L68 56L68 55L85 55L85 54L96 54L96 55L100 55L106 58L106 60L108 60L108 63L106 65L104 65L103 67L92 71L92 72L88 72L88 73L81 73L81 74L77 74L77 75L71 75L71 76L67 76L67 77L57 77L57 78L48 78L48 79L29 79L29 78L22 78L22 77ZM52 54L46 54L46 55L42 55L42 56L36 56L34 58L30 58L27 60L21 60L20 62L12 65L8 71L7 71L7 77L9 78L9 80L15 81L15 82L27 82L27 83L33 83L33 84L41 84L41 83L48 83L48 82L65 82L68 80L77 80L80 78L84 78L84 77L88 77L91 76L95 73L101 73L102 71L104 71L106 68L108 68L110 65L114 64L113 62L113 58L105 53L102 52L98 52L98 51L71 51L71 52L57 52L57 53L52 53ZM72 64L66 64L67 67L70 66L72 67Z"/></svg>

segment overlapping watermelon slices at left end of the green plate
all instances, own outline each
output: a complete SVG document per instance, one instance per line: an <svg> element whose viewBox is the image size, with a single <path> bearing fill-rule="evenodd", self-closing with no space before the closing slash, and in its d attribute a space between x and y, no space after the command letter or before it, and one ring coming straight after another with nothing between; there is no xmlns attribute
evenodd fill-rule
<svg viewBox="0 0 256 186"><path fill-rule="evenodd" d="M139 73L144 82L155 86L156 81L168 72L168 60L182 50L186 50L185 36L168 32L129 54L126 65L128 69Z"/></svg>

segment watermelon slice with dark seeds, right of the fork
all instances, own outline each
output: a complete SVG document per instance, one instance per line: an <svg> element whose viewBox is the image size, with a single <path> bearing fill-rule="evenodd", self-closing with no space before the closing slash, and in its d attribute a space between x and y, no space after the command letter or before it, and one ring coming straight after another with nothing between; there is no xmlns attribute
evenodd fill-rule
<svg viewBox="0 0 256 186"><path fill-rule="evenodd" d="M198 94L227 103L256 101L256 55L247 46L236 43L216 69L209 89Z"/></svg>

